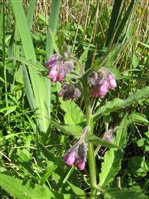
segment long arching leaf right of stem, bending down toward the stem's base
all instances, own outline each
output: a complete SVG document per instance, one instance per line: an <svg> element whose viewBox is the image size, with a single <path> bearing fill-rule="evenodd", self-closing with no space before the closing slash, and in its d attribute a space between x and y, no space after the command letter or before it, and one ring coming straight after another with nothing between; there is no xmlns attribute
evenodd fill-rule
<svg viewBox="0 0 149 199"><path fill-rule="evenodd" d="M148 123L148 120L138 113L132 113L131 115L124 117L113 140L113 144L119 146L121 150L110 148L105 153L104 162L101 166L101 173L99 174L100 186L109 184L119 172L123 158L122 149L124 149L127 144L127 127L132 122L139 122L144 124Z"/></svg>

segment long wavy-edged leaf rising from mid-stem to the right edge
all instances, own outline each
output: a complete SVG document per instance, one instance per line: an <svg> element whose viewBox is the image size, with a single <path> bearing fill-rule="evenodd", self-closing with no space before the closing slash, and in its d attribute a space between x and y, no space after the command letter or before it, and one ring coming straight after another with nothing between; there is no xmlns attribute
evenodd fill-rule
<svg viewBox="0 0 149 199"><path fill-rule="evenodd" d="M129 95L126 100L115 98L112 101L107 102L105 105L100 107L100 109L93 115L93 119L99 119L103 115L109 115L110 113L117 111L119 109L130 106L133 103L138 103L139 100L143 100L149 97L149 86L144 87L141 90Z"/></svg>

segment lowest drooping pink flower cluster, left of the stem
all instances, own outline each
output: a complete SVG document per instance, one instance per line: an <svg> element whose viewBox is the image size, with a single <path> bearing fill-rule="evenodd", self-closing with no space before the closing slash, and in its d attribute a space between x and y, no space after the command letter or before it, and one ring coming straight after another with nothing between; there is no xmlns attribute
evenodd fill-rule
<svg viewBox="0 0 149 199"><path fill-rule="evenodd" d="M64 155L64 162L68 165L74 165L79 170L85 169L87 157L87 144L85 142L77 142Z"/></svg>

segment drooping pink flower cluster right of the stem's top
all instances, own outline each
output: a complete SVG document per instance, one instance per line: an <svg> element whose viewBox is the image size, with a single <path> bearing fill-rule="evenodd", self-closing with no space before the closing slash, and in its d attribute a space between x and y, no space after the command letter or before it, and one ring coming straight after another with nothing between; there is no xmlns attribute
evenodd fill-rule
<svg viewBox="0 0 149 199"><path fill-rule="evenodd" d="M93 97L103 98L110 89L116 87L116 81L113 74L106 68L101 68L98 72L92 72L88 76L91 85L91 94Z"/></svg>

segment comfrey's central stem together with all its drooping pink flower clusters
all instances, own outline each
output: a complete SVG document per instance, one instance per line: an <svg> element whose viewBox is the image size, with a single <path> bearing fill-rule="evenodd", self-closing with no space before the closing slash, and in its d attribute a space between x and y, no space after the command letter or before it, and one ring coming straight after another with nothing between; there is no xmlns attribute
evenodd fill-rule
<svg viewBox="0 0 149 199"><path fill-rule="evenodd" d="M96 164L95 151L92 143L88 142L88 136L94 135L93 108L92 102L96 98L104 98L106 94L116 88L116 80L111 71L106 67L100 67L98 70L89 69L84 71L84 66L73 56L67 54L62 56L54 54L45 64L48 69L48 78L52 82L60 82L61 90L58 95L64 101L76 101L80 97L84 101L86 127L82 129L80 139L64 154L64 162L68 166L75 166L79 170L85 170L88 162L91 196L96 195ZM80 73L77 73L76 67L80 67ZM71 74L73 74L72 78ZM67 76L69 80L67 81ZM76 77L76 78L75 78ZM109 132L109 131L108 131ZM111 143L113 135L104 135L104 142Z"/></svg>

